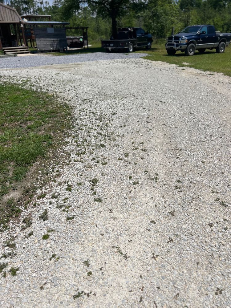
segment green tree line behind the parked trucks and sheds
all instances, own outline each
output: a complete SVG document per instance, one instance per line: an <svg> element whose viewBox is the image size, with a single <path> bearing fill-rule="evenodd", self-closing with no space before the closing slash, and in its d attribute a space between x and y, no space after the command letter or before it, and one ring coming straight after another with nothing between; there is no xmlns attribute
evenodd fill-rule
<svg viewBox="0 0 231 308"><path fill-rule="evenodd" d="M4 0L0 0L4 1ZM231 0L5 0L22 14L49 14L54 21L89 26L91 42L108 39L121 26L138 26L156 39L192 24L231 32Z"/></svg>

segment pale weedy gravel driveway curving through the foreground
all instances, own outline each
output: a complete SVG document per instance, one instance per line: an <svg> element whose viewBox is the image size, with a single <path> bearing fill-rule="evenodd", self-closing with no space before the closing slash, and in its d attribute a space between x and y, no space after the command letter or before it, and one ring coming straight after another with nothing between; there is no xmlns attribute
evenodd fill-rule
<svg viewBox="0 0 231 308"><path fill-rule="evenodd" d="M73 107L68 164L1 235L18 271L0 306L230 307L230 77L143 59L0 75Z"/></svg>

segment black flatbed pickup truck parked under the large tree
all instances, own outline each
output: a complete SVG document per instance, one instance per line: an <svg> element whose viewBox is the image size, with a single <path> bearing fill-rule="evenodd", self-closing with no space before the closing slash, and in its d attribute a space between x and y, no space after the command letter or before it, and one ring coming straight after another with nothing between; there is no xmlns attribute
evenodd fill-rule
<svg viewBox="0 0 231 308"><path fill-rule="evenodd" d="M116 37L101 41L101 44L107 51L125 50L132 52L136 47L150 49L152 41L152 34L148 34L148 32L145 32L141 28L131 27L118 29Z"/></svg>

